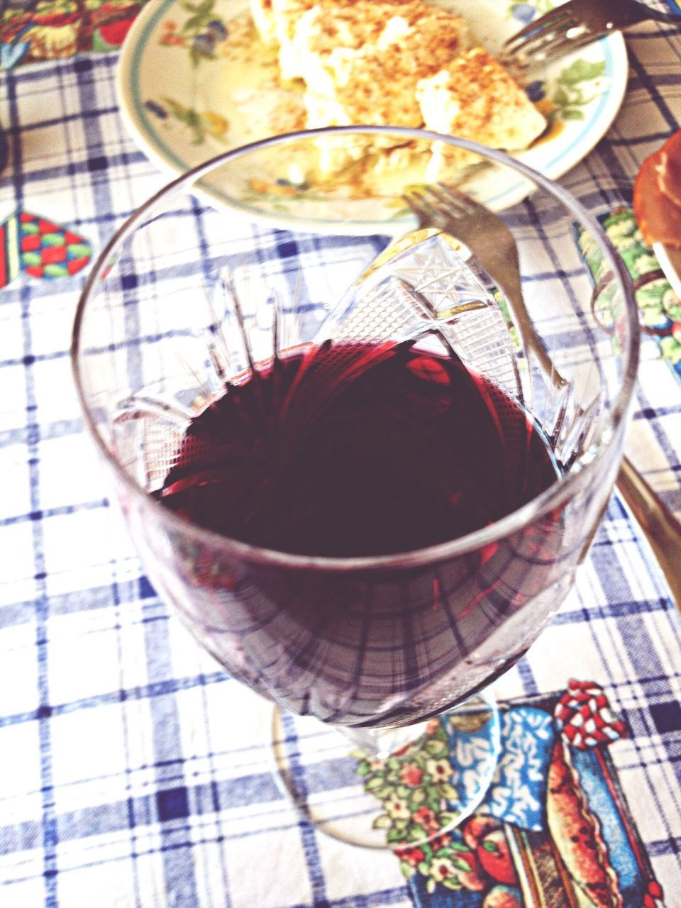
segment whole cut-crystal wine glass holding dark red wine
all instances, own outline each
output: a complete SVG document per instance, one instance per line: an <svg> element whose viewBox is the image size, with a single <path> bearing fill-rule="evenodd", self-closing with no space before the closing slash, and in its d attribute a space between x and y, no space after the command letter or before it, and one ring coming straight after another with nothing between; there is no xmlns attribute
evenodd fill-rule
<svg viewBox="0 0 681 908"><path fill-rule="evenodd" d="M467 166L443 172L443 148ZM474 250L414 229L401 195L434 161L513 233L536 342ZM252 242L267 222L288 232ZM223 153L94 264L72 356L113 497L159 594L275 705L273 771L327 833L414 845L480 804L487 688L587 553L637 331L568 192L406 127ZM429 760L439 821L415 829L386 779L416 797Z"/></svg>

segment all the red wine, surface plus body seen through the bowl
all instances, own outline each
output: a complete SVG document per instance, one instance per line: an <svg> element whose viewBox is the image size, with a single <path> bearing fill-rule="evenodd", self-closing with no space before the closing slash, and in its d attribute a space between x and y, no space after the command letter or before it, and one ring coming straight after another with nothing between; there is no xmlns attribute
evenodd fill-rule
<svg viewBox="0 0 681 908"><path fill-rule="evenodd" d="M398 557L289 562L173 527L154 582L262 695L328 722L408 724L522 655L583 534L551 510L456 555L398 553L485 527L556 478L518 403L444 347L325 344L230 385L192 420L158 495L256 546Z"/></svg>

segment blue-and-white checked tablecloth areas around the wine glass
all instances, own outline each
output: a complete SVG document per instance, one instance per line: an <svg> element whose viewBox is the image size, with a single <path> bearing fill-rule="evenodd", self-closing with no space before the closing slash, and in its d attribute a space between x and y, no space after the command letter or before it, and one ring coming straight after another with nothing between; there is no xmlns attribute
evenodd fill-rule
<svg viewBox="0 0 681 908"><path fill-rule="evenodd" d="M646 25L627 45L622 110L560 181L595 212L630 205L638 166L681 120L679 29ZM123 127L116 65L115 54L90 54L3 74L0 222L38 212L96 252L165 182ZM304 247L312 263L331 242L291 243L248 222L240 231L281 255ZM0 291L0 908L419 903L394 854L339 844L295 812L271 775L271 707L225 676L144 577L74 394L68 351L84 273L23 274ZM681 514L681 382L652 335L627 453ZM497 692L530 701L575 676L603 686L627 725L612 761L673 908L681 623L617 496L568 600ZM436 895L433 905L469 904ZM662 903L651 898L646 908Z"/></svg>

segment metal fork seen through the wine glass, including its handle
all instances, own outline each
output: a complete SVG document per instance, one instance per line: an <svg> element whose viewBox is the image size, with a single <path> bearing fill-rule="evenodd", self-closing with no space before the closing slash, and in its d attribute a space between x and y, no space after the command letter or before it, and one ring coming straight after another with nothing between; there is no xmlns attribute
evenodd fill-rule
<svg viewBox="0 0 681 908"><path fill-rule="evenodd" d="M525 349L534 352L556 389L567 389L568 380L556 369L530 321L520 284L516 241L498 214L443 183L411 186L402 196L416 214L419 228L435 227L468 246L504 292ZM681 611L681 523L626 457L622 459L616 484L645 533Z"/></svg>

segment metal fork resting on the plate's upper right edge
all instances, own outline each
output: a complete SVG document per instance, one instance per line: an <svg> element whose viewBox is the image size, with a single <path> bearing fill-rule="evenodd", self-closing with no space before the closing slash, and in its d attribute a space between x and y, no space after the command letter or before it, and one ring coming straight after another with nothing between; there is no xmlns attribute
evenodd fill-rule
<svg viewBox="0 0 681 908"><path fill-rule="evenodd" d="M649 20L679 25L681 15L662 13L638 0L568 0L521 28L502 49L507 58L528 65Z"/></svg>

